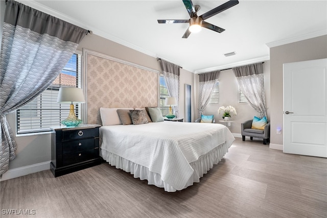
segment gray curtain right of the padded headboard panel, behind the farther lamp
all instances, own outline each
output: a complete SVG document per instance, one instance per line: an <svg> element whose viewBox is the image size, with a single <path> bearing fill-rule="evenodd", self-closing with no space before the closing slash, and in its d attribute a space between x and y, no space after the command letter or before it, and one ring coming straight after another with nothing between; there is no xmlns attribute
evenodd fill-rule
<svg viewBox="0 0 327 218"><path fill-rule="evenodd" d="M175 97L177 104L179 103L179 69L180 67L176 64L170 63L166 60L159 59L162 74L164 74L168 95ZM179 106L173 106L176 117L179 117Z"/></svg>

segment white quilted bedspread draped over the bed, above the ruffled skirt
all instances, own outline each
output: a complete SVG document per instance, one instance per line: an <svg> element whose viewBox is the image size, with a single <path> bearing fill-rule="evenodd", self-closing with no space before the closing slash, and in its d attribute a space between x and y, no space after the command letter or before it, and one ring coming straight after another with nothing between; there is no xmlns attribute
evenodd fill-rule
<svg viewBox="0 0 327 218"><path fill-rule="evenodd" d="M157 122L100 128L101 149L159 173L162 181L181 190L193 174L189 163L235 138L221 124Z"/></svg>

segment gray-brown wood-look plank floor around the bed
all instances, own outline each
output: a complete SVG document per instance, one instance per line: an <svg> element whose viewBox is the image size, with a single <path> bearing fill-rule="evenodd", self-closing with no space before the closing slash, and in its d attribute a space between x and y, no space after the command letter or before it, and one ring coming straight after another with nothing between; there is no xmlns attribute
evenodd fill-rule
<svg viewBox="0 0 327 218"><path fill-rule="evenodd" d="M327 159L240 138L200 183L172 193L107 163L0 185L1 217L25 217L7 209L35 212L28 217L327 217Z"/></svg>

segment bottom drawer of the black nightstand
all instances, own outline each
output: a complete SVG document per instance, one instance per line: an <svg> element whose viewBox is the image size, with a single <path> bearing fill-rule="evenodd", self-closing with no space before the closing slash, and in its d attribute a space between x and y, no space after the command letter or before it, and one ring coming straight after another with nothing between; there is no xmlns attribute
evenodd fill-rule
<svg viewBox="0 0 327 218"><path fill-rule="evenodd" d="M67 166L67 165L91 160L96 157L96 151L98 151L98 149L96 150L93 148L89 150L82 150L78 152L65 154L62 157L62 165Z"/></svg>

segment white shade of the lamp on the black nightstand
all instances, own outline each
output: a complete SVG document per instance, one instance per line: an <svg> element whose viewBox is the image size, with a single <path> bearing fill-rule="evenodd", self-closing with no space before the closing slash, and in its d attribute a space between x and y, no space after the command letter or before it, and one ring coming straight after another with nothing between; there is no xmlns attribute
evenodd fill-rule
<svg viewBox="0 0 327 218"><path fill-rule="evenodd" d="M83 90L75 87L60 87L57 102L64 104L85 103Z"/></svg>

